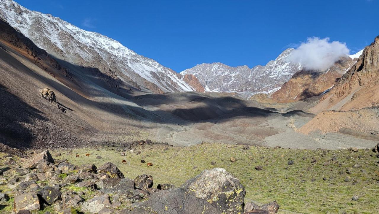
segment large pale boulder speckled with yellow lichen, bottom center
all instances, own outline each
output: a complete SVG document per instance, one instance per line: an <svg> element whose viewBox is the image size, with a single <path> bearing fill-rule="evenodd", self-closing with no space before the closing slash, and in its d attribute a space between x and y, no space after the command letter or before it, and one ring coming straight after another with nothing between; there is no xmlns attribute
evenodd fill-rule
<svg viewBox="0 0 379 214"><path fill-rule="evenodd" d="M243 212L245 187L224 168L204 170L189 179L182 188L197 198L207 200L223 213L240 214Z"/></svg>

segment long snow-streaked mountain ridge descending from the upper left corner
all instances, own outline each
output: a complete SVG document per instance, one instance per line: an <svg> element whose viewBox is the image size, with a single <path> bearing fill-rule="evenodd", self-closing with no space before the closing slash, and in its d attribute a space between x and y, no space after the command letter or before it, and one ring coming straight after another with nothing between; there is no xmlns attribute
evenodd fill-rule
<svg viewBox="0 0 379 214"><path fill-rule="evenodd" d="M147 92L194 90L175 71L155 60L107 36L82 30L50 14L28 10L12 0L1 0L0 18L56 59L97 68L112 78L137 84Z"/></svg>

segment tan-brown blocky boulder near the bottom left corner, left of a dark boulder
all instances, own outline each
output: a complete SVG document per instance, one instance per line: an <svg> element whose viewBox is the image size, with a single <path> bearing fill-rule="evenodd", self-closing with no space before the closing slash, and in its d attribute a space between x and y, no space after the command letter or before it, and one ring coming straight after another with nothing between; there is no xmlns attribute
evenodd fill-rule
<svg viewBox="0 0 379 214"><path fill-rule="evenodd" d="M22 209L29 211L39 210L39 198L37 194L33 192L22 193L14 197L14 211L19 212Z"/></svg>

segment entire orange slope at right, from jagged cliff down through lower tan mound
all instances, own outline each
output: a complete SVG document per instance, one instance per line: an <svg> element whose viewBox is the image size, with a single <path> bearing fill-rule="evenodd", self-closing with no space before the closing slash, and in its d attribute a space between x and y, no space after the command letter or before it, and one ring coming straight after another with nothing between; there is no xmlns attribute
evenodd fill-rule
<svg viewBox="0 0 379 214"><path fill-rule="evenodd" d="M379 36L310 111L319 114L301 133L318 129L379 139Z"/></svg>

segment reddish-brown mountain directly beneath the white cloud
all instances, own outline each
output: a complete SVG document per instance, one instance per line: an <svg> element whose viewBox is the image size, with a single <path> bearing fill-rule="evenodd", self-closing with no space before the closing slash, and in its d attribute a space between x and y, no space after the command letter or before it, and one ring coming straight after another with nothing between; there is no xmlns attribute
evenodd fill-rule
<svg viewBox="0 0 379 214"><path fill-rule="evenodd" d="M304 68L274 92L272 98L276 101L297 101L325 93L356 63L356 60L348 56L341 57L332 67L321 72Z"/></svg>

